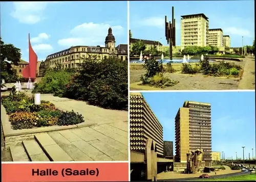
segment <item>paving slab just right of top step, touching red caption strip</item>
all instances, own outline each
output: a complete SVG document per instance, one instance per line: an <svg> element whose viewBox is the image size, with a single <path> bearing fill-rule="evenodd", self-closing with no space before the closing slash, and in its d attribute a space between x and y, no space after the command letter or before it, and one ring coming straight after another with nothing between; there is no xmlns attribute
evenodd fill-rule
<svg viewBox="0 0 256 182"><path fill-rule="evenodd" d="M74 161L93 161L75 145L59 145Z"/></svg>

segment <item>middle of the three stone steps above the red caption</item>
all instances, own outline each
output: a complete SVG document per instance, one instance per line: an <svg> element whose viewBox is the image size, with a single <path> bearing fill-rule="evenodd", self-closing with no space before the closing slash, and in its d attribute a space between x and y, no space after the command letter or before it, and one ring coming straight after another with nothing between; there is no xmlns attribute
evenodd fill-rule
<svg viewBox="0 0 256 182"><path fill-rule="evenodd" d="M35 140L22 141L30 161L50 161L40 145Z"/></svg>

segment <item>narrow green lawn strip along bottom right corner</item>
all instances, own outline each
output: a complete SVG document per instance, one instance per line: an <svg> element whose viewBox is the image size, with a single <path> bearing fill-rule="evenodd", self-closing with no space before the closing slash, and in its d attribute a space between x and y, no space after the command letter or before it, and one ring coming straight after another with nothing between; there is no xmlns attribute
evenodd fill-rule
<svg viewBox="0 0 256 182"><path fill-rule="evenodd" d="M193 179L193 181L243 181L243 180L256 180L256 174L221 177L221 178L209 178L209 179L207 179L207 178L205 178L205 179Z"/></svg>

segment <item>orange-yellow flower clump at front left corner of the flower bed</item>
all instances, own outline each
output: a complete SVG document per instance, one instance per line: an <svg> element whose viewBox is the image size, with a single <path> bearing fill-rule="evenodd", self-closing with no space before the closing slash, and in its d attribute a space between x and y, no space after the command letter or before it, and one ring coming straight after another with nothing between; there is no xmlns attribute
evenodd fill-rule
<svg viewBox="0 0 256 182"><path fill-rule="evenodd" d="M33 128L37 126L39 117L35 112L15 112L9 115L13 129Z"/></svg>

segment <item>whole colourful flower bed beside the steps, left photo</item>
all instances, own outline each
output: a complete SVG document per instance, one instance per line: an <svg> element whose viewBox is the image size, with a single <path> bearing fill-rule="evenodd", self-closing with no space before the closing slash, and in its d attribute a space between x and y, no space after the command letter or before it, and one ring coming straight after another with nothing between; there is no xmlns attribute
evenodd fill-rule
<svg viewBox="0 0 256 182"><path fill-rule="evenodd" d="M9 115L13 129L74 125L84 122L83 116L79 113L60 111L53 103L45 100L41 100L40 105L34 105L33 97L14 89L8 96L2 96L1 102Z"/></svg>

